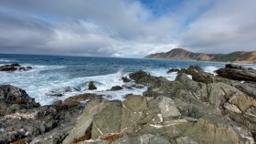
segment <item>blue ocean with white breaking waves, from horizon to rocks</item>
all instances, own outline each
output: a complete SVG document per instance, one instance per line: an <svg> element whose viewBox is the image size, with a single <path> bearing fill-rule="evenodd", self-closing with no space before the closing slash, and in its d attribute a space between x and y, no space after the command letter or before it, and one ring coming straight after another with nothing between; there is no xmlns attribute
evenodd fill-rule
<svg viewBox="0 0 256 144"><path fill-rule="evenodd" d="M123 99L126 94L142 95L146 87L124 88L110 91L111 87L133 85L124 84L122 77L137 70L144 70L156 77L174 80L176 73L167 74L169 68L187 68L192 65L213 73L226 63L182 60L155 60L116 57L64 57L0 54L0 65L18 63L22 67L33 67L24 72L0 72L0 85L13 85L27 91L41 105L52 104L83 93L96 93L105 98ZM255 65L243 64L256 68ZM96 90L88 90L87 85L94 81ZM62 97L52 96L63 94Z"/></svg>

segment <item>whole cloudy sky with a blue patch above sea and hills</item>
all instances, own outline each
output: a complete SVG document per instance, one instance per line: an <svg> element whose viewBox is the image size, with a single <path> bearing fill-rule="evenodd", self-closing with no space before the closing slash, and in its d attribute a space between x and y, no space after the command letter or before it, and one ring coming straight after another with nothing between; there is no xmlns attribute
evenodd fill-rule
<svg viewBox="0 0 256 144"><path fill-rule="evenodd" d="M0 0L0 53L256 50L255 0Z"/></svg>

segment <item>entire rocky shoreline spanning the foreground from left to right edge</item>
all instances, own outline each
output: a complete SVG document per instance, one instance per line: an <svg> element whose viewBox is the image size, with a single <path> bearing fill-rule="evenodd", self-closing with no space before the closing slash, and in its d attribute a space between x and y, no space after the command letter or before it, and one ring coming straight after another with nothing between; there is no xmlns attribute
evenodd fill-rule
<svg viewBox="0 0 256 144"><path fill-rule="evenodd" d="M168 72L177 72L176 80L144 71L125 77L148 88L143 96L129 94L124 101L83 94L40 106L23 89L0 86L0 143L256 141L255 69L228 64L217 76L197 66Z"/></svg>

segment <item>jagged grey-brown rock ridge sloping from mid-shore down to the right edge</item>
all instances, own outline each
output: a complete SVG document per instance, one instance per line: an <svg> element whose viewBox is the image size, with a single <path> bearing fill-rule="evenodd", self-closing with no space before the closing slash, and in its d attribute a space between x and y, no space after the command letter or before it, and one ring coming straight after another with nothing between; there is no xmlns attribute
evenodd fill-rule
<svg viewBox="0 0 256 144"><path fill-rule="evenodd" d="M195 81L184 73L192 75ZM256 115L253 111L256 111L256 101L248 89L240 90L240 81L215 77L195 67L184 69L172 82L143 72L134 74L140 74L140 77L133 77L133 80L141 83L141 79L144 79L150 83L144 92L145 97L172 98L181 116L189 119L204 118L214 125L227 126L237 133L241 141L253 143L252 134L256 131ZM255 89L250 90L255 93Z"/></svg>

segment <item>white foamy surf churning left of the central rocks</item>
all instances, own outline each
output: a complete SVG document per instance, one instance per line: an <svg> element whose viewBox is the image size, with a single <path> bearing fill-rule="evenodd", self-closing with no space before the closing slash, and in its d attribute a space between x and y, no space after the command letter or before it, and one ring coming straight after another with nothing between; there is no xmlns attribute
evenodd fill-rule
<svg viewBox="0 0 256 144"><path fill-rule="evenodd" d="M122 70L110 75L94 76L94 77L75 77L70 78L68 75L58 73L41 74L42 70L63 68L59 66L32 66L33 70L27 72L0 72L0 84L10 84L23 88L30 97L36 98L41 105L48 105L56 100L64 100L71 96L82 93L96 93L105 95L109 99L123 100L124 96L133 93L134 95L142 95L146 87L143 88L123 88L118 91L109 91L114 86L129 87L133 83L124 84ZM96 90L89 90L88 84L93 81L97 87ZM71 91L65 89L69 87ZM77 90L79 91L77 91ZM63 94L63 97L52 96L54 94Z"/></svg>

